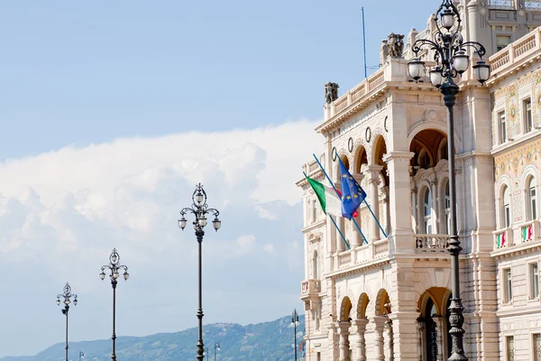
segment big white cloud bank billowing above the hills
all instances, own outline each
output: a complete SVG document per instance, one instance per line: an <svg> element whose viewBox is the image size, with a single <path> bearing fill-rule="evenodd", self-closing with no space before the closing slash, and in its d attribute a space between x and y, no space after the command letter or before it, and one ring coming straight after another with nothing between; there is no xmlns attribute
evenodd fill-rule
<svg viewBox="0 0 541 361"><path fill-rule="evenodd" d="M203 242L209 289L227 294L228 304L250 308L247 285L265 284L258 292L261 300L271 300L277 290L289 287L277 280L297 277L300 281L303 276L302 249L285 240L291 229L302 227L302 193L295 181L302 177L301 165L321 147L323 140L313 131L315 126L302 121L223 133L118 139L0 163L0 272L18 275L16 282L0 284L0 289L17 294L18 284L23 283L32 292L43 289L56 296L64 282L72 282L81 308L87 304L88 321L76 338L103 338L101 308L108 307L105 292L110 287L100 283L97 274L117 247L131 273L119 292L148 304L148 309L124 309L126 317L138 320L124 334L193 326L191 309L171 308L167 319L156 319L151 316L152 301L145 300L159 289L171 295L170 302L196 302L190 282L196 280L197 242L191 225L181 232L177 219L180 208L190 205L195 184L201 182L209 207L218 208L223 221L218 233L210 226L206 229ZM276 227L278 218L280 227ZM269 257L273 253L288 256ZM243 282L238 282L241 277ZM296 282L291 290L285 291L284 300L296 297ZM0 330L6 344L24 332L17 325L49 314L45 300L50 295L44 294L44 301L38 296L17 301L22 304L10 298L0 301L4 310L28 310L27 319L7 316L5 321L13 327ZM255 321L248 316L251 312L236 311L243 307L218 312L225 307L219 301L206 307L206 322ZM279 310L280 304L269 302L263 307ZM225 314L230 319L223 319ZM61 338L48 330L51 321L36 325L36 335L46 336L31 339L35 349L25 347L26 352ZM15 354L20 348L3 351Z"/></svg>

